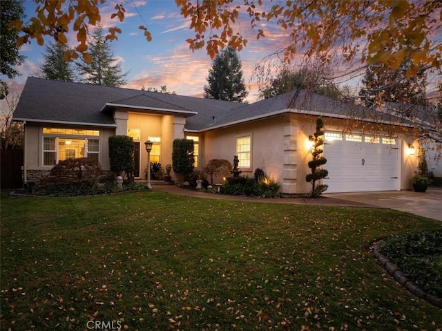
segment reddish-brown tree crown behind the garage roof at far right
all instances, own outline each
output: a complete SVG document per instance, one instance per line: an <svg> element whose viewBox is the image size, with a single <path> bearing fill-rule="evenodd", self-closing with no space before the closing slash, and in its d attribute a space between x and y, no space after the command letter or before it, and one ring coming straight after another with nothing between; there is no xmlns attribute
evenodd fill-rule
<svg viewBox="0 0 442 331"><path fill-rule="evenodd" d="M396 70L385 68L385 64L368 66L362 79L364 87L359 97L366 107L376 107L385 102L427 104L426 74L407 77L410 60L405 60Z"/></svg>

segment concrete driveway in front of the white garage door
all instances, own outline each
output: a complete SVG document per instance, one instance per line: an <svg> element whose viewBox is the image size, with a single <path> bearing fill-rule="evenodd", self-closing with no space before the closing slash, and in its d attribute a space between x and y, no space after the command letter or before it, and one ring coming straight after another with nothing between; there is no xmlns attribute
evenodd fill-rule
<svg viewBox="0 0 442 331"><path fill-rule="evenodd" d="M425 193L414 191L384 191L325 193L323 196L375 207L406 211L410 214L442 221L442 188L439 187L429 187Z"/></svg>

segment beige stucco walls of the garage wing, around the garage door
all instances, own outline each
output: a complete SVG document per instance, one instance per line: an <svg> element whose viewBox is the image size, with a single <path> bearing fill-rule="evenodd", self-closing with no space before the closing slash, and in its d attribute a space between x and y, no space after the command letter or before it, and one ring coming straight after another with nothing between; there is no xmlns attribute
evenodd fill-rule
<svg viewBox="0 0 442 331"><path fill-rule="evenodd" d="M236 153L236 138L242 135L251 136L251 167L244 169L242 175L253 176L256 168L261 168L267 176L280 182L280 192L285 196L307 193L311 184L305 181L310 173L308 162L309 135L316 131L318 116L286 114L258 120L247 124L224 127L206 131L200 135L200 160L202 165L213 158L224 158L233 162ZM343 132L347 123L344 120L323 118L325 130ZM379 135L389 135L391 126L376 126ZM361 133L357 127L353 133ZM365 134L369 135L374 128L365 126ZM398 139L398 185L397 189L411 189L410 179L417 167L417 142L410 135L397 132ZM416 153L409 155L408 144L414 143ZM327 164L325 164L327 169ZM222 180L217 178L218 182Z"/></svg>

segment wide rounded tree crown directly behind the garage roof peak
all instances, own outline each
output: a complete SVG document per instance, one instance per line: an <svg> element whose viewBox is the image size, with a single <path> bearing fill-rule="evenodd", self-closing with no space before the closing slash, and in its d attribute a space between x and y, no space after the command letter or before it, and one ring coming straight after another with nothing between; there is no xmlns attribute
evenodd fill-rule
<svg viewBox="0 0 442 331"><path fill-rule="evenodd" d="M296 88L305 89L318 93L320 95L327 95L334 99L341 99L342 93L336 86L327 82L323 78L323 73L314 68L308 68L302 66L298 70L289 70L283 68L278 72L276 77L270 79L269 84L260 88L260 99L268 99L289 91L293 91Z"/></svg>

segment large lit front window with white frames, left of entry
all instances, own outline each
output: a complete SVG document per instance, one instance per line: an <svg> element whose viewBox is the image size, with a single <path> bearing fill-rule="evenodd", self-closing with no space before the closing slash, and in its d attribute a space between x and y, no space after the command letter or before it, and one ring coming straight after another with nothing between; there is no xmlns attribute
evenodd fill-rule
<svg viewBox="0 0 442 331"><path fill-rule="evenodd" d="M75 138L75 135L99 135L96 130L44 128L43 165L53 166L70 158L93 158L99 160L97 138Z"/></svg>

